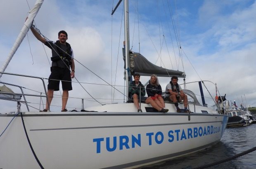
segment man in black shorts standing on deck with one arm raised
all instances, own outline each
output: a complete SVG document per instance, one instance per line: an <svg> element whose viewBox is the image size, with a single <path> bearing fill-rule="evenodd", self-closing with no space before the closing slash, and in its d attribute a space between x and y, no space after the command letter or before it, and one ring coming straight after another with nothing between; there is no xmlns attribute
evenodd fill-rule
<svg viewBox="0 0 256 169"><path fill-rule="evenodd" d="M59 80L62 81L62 112L66 112L66 104L69 98L69 90L72 90L71 78L75 76L75 63L73 60L73 50L69 43L66 42L68 34L65 31L59 31L56 42L47 41L31 26L33 35L47 47L52 49L52 67L48 80L47 97L48 103L44 112L50 111L53 92L59 91ZM70 70L71 67L71 70Z"/></svg>

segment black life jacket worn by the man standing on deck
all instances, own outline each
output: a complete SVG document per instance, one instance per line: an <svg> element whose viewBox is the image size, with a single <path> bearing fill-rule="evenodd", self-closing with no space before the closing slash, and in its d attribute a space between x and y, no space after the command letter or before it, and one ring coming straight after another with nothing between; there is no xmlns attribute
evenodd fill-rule
<svg viewBox="0 0 256 169"><path fill-rule="evenodd" d="M58 62L60 60L64 61L64 63L67 66L71 66L72 61L71 61L71 56L72 56L72 51L71 51L71 46L68 42L66 42L66 52L64 52L65 50L62 50L61 44L59 42L59 40L57 40L55 42L55 45L57 45L56 47L56 52L54 52L54 56L51 57L51 61L55 61L58 65ZM61 61L61 62L62 62Z"/></svg>

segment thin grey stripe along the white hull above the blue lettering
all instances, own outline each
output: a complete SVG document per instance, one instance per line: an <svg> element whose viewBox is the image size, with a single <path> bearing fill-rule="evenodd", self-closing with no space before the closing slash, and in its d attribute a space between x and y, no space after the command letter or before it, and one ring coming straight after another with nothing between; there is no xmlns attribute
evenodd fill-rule
<svg viewBox="0 0 256 169"><path fill-rule="evenodd" d="M102 128L125 128L125 127L150 127L150 126L172 126L172 125L204 124L204 123L222 123L222 121L190 122L190 123L166 123L166 124L143 124L143 125L124 125L124 126L71 127L71 128L53 128L53 129L30 129L30 131L73 130L73 129L102 129Z"/></svg>

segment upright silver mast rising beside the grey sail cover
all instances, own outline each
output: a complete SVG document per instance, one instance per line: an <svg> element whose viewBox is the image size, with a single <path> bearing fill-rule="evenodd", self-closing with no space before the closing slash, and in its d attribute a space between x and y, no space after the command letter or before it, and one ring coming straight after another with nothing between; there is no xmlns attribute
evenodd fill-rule
<svg viewBox="0 0 256 169"><path fill-rule="evenodd" d="M125 32L125 54L126 54L126 95L129 94L129 77L130 77L130 62L129 62L129 54L130 54L130 38L129 38L129 5L128 0L124 0L124 32ZM126 97L126 101L128 98Z"/></svg>

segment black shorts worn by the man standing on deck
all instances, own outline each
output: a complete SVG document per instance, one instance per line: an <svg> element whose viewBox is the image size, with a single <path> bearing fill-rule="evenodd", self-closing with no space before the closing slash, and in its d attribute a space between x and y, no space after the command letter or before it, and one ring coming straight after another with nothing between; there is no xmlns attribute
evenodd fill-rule
<svg viewBox="0 0 256 169"><path fill-rule="evenodd" d="M62 90L72 90L70 70L68 68L59 68L52 66L51 74L48 80L48 90L59 91L59 80L62 81Z"/></svg>

